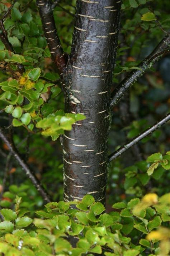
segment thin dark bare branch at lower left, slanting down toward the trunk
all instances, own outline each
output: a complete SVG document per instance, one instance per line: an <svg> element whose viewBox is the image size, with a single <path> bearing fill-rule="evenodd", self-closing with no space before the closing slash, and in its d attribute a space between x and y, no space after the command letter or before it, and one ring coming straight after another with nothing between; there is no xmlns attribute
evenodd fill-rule
<svg viewBox="0 0 170 256"><path fill-rule="evenodd" d="M41 186L39 183L39 180L37 177L34 175L34 173L30 170L29 166L27 163L22 159L20 154L18 153L17 149L12 145L9 140L6 138L5 134L3 131L0 129L0 138L4 141L4 143L8 146L9 150L11 153L14 155L15 159L18 161L20 166L23 168L25 173L27 174L28 178L32 181L33 185L37 188L41 196L43 197L44 201L46 202L51 202L47 192L44 190L44 188Z"/></svg>

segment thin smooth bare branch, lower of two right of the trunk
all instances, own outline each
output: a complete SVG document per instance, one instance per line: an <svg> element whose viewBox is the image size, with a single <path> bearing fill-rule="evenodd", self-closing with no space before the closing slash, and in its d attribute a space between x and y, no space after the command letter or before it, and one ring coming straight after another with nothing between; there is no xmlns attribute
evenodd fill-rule
<svg viewBox="0 0 170 256"><path fill-rule="evenodd" d="M159 122L155 123L155 125L151 126L147 130L145 130L140 135L136 136L131 142L123 145L121 148L119 148L117 151L113 152L109 156L109 162L113 161L115 158L121 156L122 153L127 151L127 149L131 148L134 144L148 136L150 133L153 133L153 131L159 129L164 123L170 120L170 113L167 114L164 118L162 118Z"/></svg>

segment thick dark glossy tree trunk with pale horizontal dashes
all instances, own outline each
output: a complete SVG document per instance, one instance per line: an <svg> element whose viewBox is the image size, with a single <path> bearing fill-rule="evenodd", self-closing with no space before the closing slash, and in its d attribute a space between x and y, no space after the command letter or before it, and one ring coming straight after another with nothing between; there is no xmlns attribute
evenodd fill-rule
<svg viewBox="0 0 170 256"><path fill-rule="evenodd" d="M91 194L105 202L110 89L121 1L79 0L70 62L63 75L65 112L86 119L62 137L64 199Z"/></svg>

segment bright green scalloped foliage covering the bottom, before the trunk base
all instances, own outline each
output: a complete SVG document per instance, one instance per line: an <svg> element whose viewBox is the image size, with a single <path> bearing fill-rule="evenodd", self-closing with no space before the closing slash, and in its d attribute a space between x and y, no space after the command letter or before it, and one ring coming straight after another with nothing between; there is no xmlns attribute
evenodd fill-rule
<svg viewBox="0 0 170 256"><path fill-rule="evenodd" d="M170 194L160 198L156 194L146 194L141 201L135 198L122 205L123 210L119 212L103 214L104 206L86 195L82 202L48 203L32 219L23 212L22 199L16 197L13 211L1 210L4 221L0 223L0 253L9 255L10 252L16 256L168 253L168 247L164 246L170 238L169 230L160 228L167 221L162 216L169 214L168 198ZM113 205L117 207L118 204ZM76 248L67 241L68 235L76 239ZM140 241L136 237L141 237Z"/></svg>

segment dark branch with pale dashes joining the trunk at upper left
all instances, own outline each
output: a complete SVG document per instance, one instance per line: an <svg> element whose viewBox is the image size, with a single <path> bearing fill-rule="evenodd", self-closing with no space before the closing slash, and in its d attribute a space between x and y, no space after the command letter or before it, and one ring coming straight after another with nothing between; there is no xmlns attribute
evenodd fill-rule
<svg viewBox="0 0 170 256"><path fill-rule="evenodd" d="M52 60L56 64L60 73L62 73L67 64L66 55L63 53L61 42L57 35L55 20L53 17L53 3L51 0L37 0L37 6Z"/></svg>

